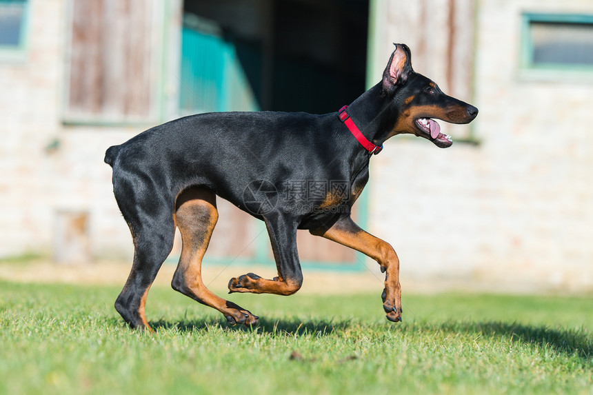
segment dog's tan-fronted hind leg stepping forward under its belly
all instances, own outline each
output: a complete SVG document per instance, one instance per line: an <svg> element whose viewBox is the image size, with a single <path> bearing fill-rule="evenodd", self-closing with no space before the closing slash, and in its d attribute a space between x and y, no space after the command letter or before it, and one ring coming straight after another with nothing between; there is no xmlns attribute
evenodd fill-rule
<svg viewBox="0 0 593 395"><path fill-rule="evenodd" d="M202 258L217 220L216 194L211 190L190 188L177 198L175 222L183 245L171 285L174 290L221 312L231 325L256 325L257 316L212 294L202 281Z"/></svg>

